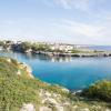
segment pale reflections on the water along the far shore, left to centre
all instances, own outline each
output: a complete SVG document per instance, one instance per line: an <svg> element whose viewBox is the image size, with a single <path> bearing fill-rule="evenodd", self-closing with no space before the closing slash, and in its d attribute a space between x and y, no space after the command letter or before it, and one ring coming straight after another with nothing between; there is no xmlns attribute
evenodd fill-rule
<svg viewBox="0 0 111 111"><path fill-rule="evenodd" d="M22 56L23 58L28 60L39 59L39 60L47 60L51 62L70 62L72 60L71 57L49 57L49 56L43 56L43 54L20 53L20 52L6 51L6 50L0 51L0 56L10 57L14 59L18 59L19 57Z"/></svg>

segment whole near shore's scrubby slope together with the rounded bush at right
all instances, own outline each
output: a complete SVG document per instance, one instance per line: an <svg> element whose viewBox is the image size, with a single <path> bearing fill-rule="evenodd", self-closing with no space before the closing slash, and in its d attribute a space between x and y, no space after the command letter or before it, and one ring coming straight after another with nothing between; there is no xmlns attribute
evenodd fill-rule
<svg viewBox="0 0 111 111"><path fill-rule="evenodd" d="M51 111L59 111L57 110L60 109L59 107L63 107L65 109L63 111L85 111L85 109L87 111L105 111L110 109L110 103L97 99L111 101L110 81L97 82L84 89L82 93L73 94L58 85L50 85L30 78L24 64L13 59L0 58L0 111L20 111L24 103L32 103L36 111L39 111L38 109L42 105L52 109Z"/></svg>

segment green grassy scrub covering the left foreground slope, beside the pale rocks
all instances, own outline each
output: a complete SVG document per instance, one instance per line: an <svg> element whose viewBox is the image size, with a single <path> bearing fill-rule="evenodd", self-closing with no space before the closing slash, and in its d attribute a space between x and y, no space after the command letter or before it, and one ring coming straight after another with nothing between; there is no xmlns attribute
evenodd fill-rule
<svg viewBox="0 0 111 111"><path fill-rule="evenodd" d="M17 75L18 70L21 75ZM39 105L40 89L65 95L60 88L30 79L27 74L17 61L0 58L0 111L18 111L23 103L30 102Z"/></svg>

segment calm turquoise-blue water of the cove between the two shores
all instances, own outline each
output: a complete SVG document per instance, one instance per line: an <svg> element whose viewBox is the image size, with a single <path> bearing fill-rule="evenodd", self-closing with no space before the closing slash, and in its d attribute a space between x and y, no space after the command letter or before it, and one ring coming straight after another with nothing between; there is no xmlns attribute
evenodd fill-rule
<svg viewBox="0 0 111 111"><path fill-rule="evenodd" d="M32 73L48 83L80 90L101 79L111 79L111 58L48 58L0 51L32 68Z"/></svg>

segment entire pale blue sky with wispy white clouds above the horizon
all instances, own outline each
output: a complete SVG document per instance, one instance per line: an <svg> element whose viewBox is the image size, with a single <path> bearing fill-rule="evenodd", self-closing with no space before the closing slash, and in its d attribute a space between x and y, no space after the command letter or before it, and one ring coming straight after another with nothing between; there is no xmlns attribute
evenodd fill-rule
<svg viewBox="0 0 111 111"><path fill-rule="evenodd" d="M0 39L111 46L111 0L0 0Z"/></svg>

